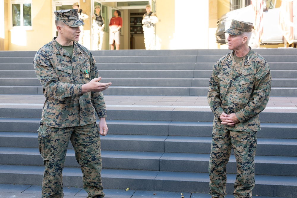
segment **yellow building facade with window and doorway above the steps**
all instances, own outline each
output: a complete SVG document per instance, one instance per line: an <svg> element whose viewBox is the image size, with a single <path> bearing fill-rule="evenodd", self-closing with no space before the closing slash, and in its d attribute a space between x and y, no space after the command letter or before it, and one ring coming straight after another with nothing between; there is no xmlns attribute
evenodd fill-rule
<svg viewBox="0 0 297 198"><path fill-rule="evenodd" d="M146 4L157 14L156 49L217 49L217 19L249 0L0 0L0 50L38 50L57 35L54 10L74 3L89 18L84 20L83 45L92 50L92 18L96 5L105 20L102 50L109 50L109 20L121 12L120 49L145 49L142 24ZM242 4L244 2L244 4ZM232 6L231 6L232 5ZM141 20L140 20L141 21Z"/></svg>

